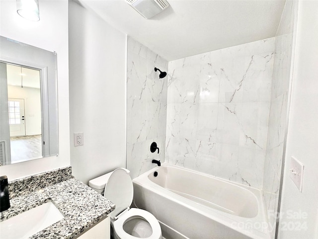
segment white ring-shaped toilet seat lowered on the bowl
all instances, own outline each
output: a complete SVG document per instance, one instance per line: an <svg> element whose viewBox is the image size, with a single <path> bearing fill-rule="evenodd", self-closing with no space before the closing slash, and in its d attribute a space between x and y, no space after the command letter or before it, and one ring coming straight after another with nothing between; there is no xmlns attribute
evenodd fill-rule
<svg viewBox="0 0 318 239"><path fill-rule="evenodd" d="M126 233L123 229L123 226L126 223L126 221L128 221L130 218L133 219L134 217L135 218L141 217L145 219L145 221L147 221L152 228L152 231L153 231L152 235L144 239L160 239L161 238L161 228L155 216L145 210L138 209L138 208L131 208L130 210L121 213L118 219L114 221L113 223L114 232L116 233L118 238L138 239L137 237L134 237Z"/></svg>

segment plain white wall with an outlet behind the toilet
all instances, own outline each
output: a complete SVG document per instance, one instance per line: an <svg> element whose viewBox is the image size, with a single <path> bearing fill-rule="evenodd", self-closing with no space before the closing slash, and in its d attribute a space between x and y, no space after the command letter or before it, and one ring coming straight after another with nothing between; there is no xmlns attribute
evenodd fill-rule
<svg viewBox="0 0 318 239"><path fill-rule="evenodd" d="M126 35L70 1L69 49L71 165L87 183L125 167ZM77 132L84 145L74 147Z"/></svg>

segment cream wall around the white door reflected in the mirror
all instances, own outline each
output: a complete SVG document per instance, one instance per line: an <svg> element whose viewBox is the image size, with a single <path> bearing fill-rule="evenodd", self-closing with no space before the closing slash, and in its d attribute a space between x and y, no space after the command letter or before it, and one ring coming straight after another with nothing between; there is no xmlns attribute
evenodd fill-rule
<svg viewBox="0 0 318 239"><path fill-rule="evenodd" d="M24 99L25 135L40 135L42 132L40 89L8 85L8 98Z"/></svg>

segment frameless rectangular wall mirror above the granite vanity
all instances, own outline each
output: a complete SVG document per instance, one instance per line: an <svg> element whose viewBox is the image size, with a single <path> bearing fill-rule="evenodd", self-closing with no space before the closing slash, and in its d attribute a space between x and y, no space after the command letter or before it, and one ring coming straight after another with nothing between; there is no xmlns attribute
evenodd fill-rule
<svg viewBox="0 0 318 239"><path fill-rule="evenodd" d="M59 154L57 55L0 36L0 164Z"/></svg>

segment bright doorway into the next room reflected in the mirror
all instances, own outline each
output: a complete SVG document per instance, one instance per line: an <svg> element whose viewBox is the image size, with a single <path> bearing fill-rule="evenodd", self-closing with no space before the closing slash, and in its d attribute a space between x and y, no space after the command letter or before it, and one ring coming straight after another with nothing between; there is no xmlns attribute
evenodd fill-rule
<svg viewBox="0 0 318 239"><path fill-rule="evenodd" d="M11 163L42 155L41 72L6 64Z"/></svg>

